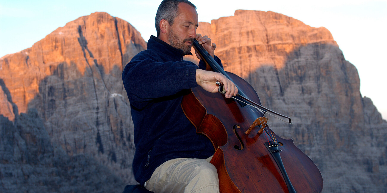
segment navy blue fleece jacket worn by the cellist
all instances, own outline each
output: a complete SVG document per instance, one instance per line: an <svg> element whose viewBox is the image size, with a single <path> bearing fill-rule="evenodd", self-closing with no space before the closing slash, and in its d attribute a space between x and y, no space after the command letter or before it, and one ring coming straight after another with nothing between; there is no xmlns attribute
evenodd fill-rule
<svg viewBox="0 0 387 193"><path fill-rule="evenodd" d="M200 61L199 67L205 69L205 64ZM141 185L165 161L205 159L215 152L211 141L196 133L180 105L183 91L198 86L196 69L194 63L183 60L182 50L154 36L147 50L125 66L122 80L130 101L136 147L132 167Z"/></svg>

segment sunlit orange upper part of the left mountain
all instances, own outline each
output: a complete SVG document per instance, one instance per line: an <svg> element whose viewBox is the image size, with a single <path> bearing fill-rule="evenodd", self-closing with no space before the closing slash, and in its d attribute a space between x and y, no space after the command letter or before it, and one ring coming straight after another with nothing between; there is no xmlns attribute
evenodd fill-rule
<svg viewBox="0 0 387 193"><path fill-rule="evenodd" d="M113 68L122 70L143 49L146 43L141 34L125 20L106 12L79 17L32 47L0 59L0 77L12 96L12 101L0 97L7 104L0 113L14 119L10 108L13 103L19 113L25 113L28 103L39 92L40 81L57 73L59 65L72 66L79 74L97 66L103 69L97 74L105 74Z"/></svg>

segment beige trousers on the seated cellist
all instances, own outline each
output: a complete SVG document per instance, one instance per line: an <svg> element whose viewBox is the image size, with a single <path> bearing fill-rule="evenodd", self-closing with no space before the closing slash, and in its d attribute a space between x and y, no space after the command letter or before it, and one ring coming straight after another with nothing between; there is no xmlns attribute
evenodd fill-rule
<svg viewBox="0 0 387 193"><path fill-rule="evenodd" d="M144 187L155 193L219 193L216 168L207 159L176 158L161 164Z"/></svg>

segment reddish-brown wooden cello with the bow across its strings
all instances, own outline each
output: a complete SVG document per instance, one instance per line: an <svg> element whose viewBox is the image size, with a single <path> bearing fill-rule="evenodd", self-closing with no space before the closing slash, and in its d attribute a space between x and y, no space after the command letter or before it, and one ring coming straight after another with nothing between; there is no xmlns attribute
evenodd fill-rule
<svg viewBox="0 0 387 193"><path fill-rule="evenodd" d="M315 163L292 139L276 135L266 114L288 119L289 124L291 118L262 107L247 81L224 71L196 39L192 45L207 70L224 74L239 90L236 97L225 98L220 83L219 93L197 86L181 103L197 133L209 137L216 149L210 163L217 169L220 192L320 193L323 179Z"/></svg>

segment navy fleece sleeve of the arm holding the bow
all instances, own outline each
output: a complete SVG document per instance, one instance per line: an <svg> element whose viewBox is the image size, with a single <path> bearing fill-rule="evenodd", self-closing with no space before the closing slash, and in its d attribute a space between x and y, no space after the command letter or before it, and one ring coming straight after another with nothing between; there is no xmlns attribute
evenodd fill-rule
<svg viewBox="0 0 387 193"><path fill-rule="evenodd" d="M194 63L159 61L142 53L125 66L122 81L131 103L149 102L198 86L195 78L198 66Z"/></svg>

